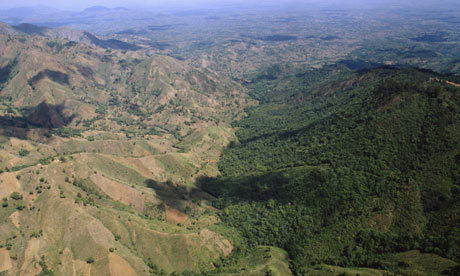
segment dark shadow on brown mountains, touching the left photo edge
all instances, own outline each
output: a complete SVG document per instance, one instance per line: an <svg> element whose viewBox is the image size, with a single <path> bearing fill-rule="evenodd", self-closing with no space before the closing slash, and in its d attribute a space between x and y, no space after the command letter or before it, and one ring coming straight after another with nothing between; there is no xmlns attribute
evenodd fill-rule
<svg viewBox="0 0 460 276"><path fill-rule="evenodd" d="M64 104L51 105L46 102L35 107L22 108L22 116L0 116L0 135L27 139L31 129L56 129L67 126L75 114L66 115Z"/></svg>

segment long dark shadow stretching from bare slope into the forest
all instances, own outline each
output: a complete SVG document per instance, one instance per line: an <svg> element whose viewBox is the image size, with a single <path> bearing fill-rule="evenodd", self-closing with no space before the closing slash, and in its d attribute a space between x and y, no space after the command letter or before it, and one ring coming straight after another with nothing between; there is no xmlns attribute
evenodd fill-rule
<svg viewBox="0 0 460 276"><path fill-rule="evenodd" d="M317 168L293 168L292 174L298 174L296 181L289 179L282 172L270 172L256 176L207 177L200 176L195 181L196 188L187 189L172 182L146 180L145 185L154 190L157 196L171 207L181 209L183 200L207 200L227 198L236 202L292 202L316 191L327 181L325 172ZM295 172L294 172L295 171ZM301 175L301 176L299 176Z"/></svg>

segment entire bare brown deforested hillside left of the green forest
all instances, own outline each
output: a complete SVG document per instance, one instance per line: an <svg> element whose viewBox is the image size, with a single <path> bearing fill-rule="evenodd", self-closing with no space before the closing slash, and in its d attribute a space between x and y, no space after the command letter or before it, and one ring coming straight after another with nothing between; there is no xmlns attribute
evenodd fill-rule
<svg viewBox="0 0 460 276"><path fill-rule="evenodd" d="M0 273L199 272L230 254L194 179L218 173L243 87L41 36L0 35L0 52Z"/></svg>

